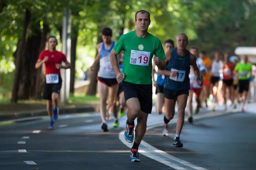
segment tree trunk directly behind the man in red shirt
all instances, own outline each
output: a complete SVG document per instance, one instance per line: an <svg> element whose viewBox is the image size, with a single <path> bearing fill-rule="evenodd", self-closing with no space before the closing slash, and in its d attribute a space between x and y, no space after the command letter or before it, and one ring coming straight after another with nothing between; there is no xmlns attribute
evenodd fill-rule
<svg viewBox="0 0 256 170"><path fill-rule="evenodd" d="M40 55L41 51L43 51L45 49L47 37L50 33L49 25L46 24L46 22L43 22L43 26L44 26L44 28L43 28L43 32L41 34L41 42L40 42L39 53L38 53L37 57ZM44 67L44 64L36 70L36 87L35 87L35 99L36 100L42 99L42 90L43 90L43 85L44 85L44 70L45 70L45 68L43 69L43 67Z"/></svg>

